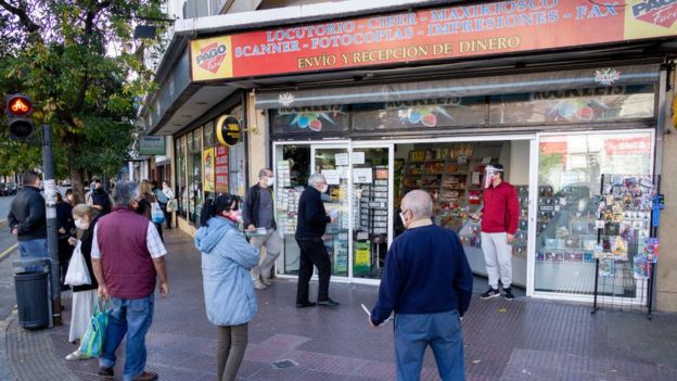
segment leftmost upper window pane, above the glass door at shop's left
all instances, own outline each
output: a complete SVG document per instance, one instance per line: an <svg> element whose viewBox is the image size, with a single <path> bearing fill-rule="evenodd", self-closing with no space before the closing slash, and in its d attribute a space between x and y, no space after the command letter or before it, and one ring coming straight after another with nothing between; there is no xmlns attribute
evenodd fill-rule
<svg viewBox="0 0 677 381"><path fill-rule="evenodd" d="M349 117L345 105L321 105L272 111L274 134L318 134L348 130Z"/></svg>

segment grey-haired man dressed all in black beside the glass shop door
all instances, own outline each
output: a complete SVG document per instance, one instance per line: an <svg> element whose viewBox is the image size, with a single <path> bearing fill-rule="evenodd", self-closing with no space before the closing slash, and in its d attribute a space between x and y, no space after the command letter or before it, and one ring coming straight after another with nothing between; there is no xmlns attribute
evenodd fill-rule
<svg viewBox="0 0 677 381"><path fill-rule="evenodd" d="M308 187L298 199L298 215L296 228L296 242L301 249L298 264L298 284L296 289L296 308L312 307L315 305L333 307L337 306L329 297L329 281L331 277L331 261L324 247L322 236L327 224L334 221L324 211L321 194L327 192L329 186L322 174L312 174L308 179ZM317 304L308 297L308 283L312 277L312 266L318 268L318 296Z"/></svg>

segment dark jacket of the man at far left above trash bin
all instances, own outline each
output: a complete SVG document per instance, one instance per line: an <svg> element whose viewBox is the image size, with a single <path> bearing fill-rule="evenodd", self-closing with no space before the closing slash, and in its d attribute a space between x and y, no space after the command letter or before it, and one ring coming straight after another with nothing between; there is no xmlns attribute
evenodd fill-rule
<svg viewBox="0 0 677 381"><path fill-rule="evenodd" d="M17 229L20 241L47 238L47 217L44 216L44 199L34 187L24 186L12 200L8 214L10 231Z"/></svg>

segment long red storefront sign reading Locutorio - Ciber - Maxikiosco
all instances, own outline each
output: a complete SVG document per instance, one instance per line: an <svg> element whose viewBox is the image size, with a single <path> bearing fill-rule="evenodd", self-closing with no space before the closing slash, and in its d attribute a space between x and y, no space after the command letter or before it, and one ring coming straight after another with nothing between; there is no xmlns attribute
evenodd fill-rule
<svg viewBox="0 0 677 381"><path fill-rule="evenodd" d="M191 42L192 79L303 73L677 35L675 1L476 3ZM600 73L612 84L616 73ZM293 97L285 98L293 104Z"/></svg>

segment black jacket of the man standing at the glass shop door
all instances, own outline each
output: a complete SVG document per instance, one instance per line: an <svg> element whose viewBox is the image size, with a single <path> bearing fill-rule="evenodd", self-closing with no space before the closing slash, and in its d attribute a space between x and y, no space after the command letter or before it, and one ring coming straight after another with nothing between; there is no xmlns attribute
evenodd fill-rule
<svg viewBox="0 0 677 381"><path fill-rule="evenodd" d="M307 187L298 199L298 224L296 239L321 238L331 218L324 211L320 191Z"/></svg>

